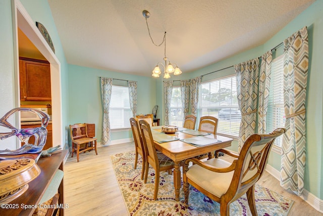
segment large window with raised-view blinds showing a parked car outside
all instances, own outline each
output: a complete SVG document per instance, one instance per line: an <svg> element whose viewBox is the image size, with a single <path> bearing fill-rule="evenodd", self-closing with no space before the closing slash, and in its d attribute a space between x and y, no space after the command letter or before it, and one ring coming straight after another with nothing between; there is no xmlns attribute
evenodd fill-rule
<svg viewBox="0 0 323 216"><path fill-rule="evenodd" d="M202 116L219 119L218 133L239 136L241 112L234 75L201 83L197 119Z"/></svg>

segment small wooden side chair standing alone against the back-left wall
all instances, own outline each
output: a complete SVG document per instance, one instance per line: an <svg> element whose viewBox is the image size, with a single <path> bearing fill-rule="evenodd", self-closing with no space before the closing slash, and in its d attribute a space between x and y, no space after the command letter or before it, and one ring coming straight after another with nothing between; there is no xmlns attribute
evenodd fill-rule
<svg viewBox="0 0 323 216"><path fill-rule="evenodd" d="M88 137L86 124L74 124L70 125L70 133L72 140L72 157L74 151L76 152L77 161L79 162L79 155L82 152L96 149L96 138Z"/></svg>

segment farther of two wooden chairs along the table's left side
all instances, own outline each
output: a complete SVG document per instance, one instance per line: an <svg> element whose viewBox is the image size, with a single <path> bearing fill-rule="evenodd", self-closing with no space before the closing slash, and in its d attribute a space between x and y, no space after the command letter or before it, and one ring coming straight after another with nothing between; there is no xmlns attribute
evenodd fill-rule
<svg viewBox="0 0 323 216"><path fill-rule="evenodd" d="M145 150L142 143L140 128L139 128L138 121L134 118L130 118L130 125L131 125L132 134L133 134L133 139L135 141L135 150L136 150L134 169L137 169L138 155L140 154L142 158L141 179L143 179L143 175L145 172L145 165L146 165L146 155L145 155Z"/></svg>

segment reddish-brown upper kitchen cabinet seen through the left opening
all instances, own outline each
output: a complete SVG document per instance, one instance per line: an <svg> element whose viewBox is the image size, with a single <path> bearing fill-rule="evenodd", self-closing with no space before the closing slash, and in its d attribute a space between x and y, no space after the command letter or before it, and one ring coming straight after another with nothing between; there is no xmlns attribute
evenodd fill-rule
<svg viewBox="0 0 323 216"><path fill-rule="evenodd" d="M51 100L49 62L20 57L19 75L21 100Z"/></svg>

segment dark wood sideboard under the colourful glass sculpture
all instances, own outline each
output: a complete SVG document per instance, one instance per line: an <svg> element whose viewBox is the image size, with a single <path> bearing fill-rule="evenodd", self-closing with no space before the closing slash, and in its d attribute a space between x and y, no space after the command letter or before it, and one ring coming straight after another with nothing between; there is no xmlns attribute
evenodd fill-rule
<svg viewBox="0 0 323 216"><path fill-rule="evenodd" d="M68 150L65 149L53 152L50 157L39 158L37 162L37 165L41 170L39 176L28 183L29 187L25 193L8 204L8 206L11 206L12 208L1 207L0 215L32 215L36 208L29 208L29 206L40 204L39 201L44 195L57 170L60 169L64 171L64 158L67 153ZM64 203L64 178L58 188L58 194L58 204L64 206L66 204ZM59 211L60 216L64 215L64 207L60 208Z"/></svg>

